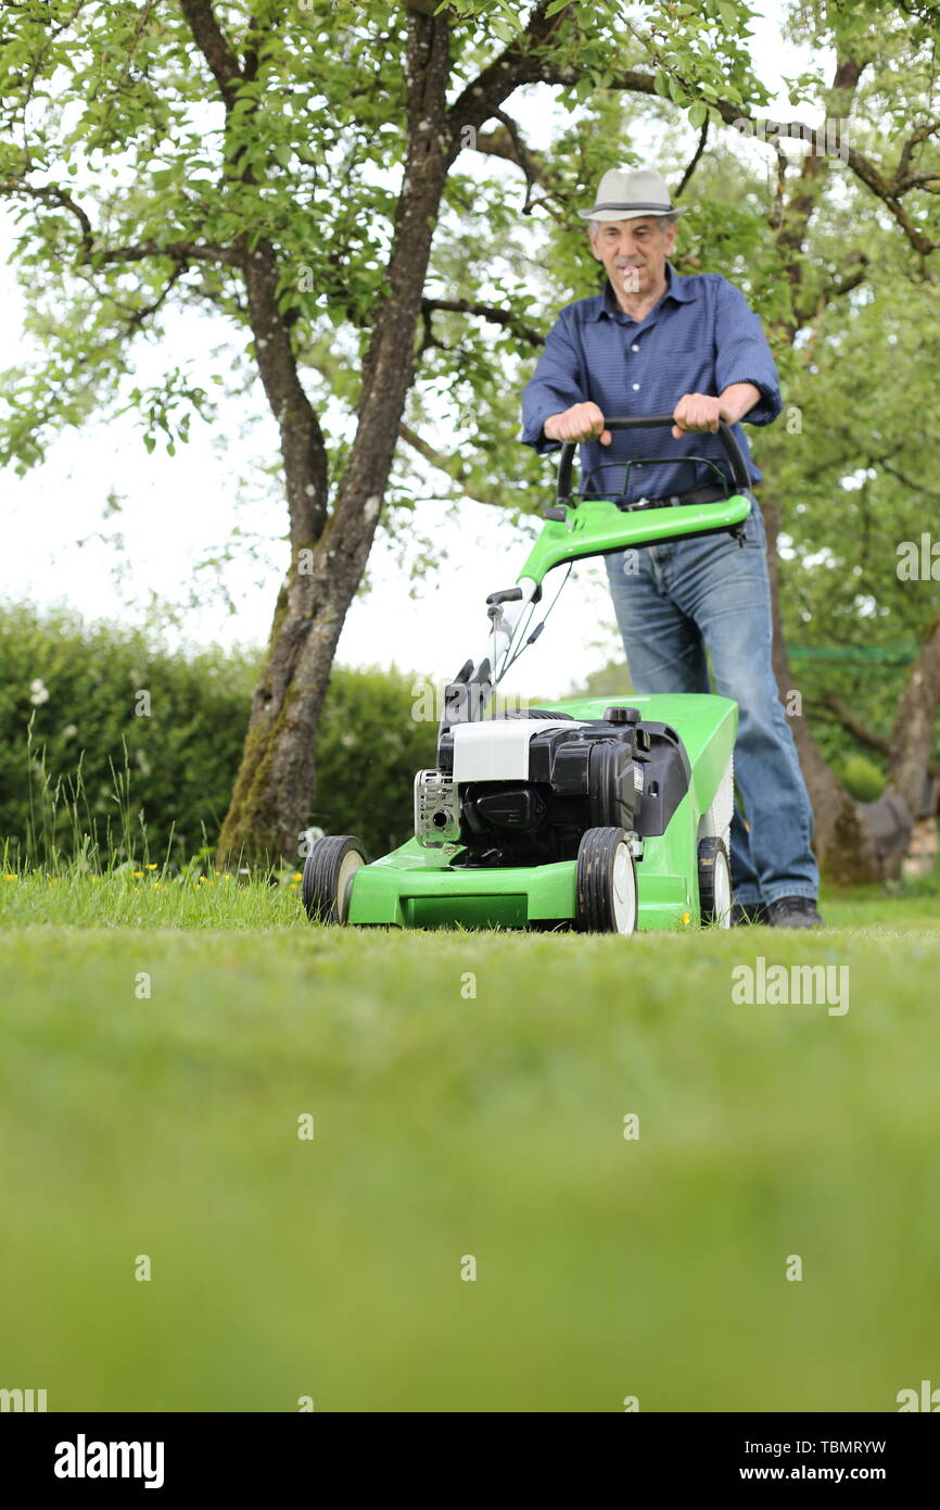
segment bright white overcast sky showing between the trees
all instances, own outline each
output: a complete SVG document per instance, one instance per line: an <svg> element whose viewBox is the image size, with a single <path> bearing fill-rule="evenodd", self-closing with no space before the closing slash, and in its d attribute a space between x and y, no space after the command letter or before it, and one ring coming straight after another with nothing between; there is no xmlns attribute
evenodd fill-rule
<svg viewBox="0 0 940 1510"><path fill-rule="evenodd" d="M753 44L757 72L771 89L782 88L783 74L795 74L813 60L807 50L782 41L776 17L777 11L766 6L765 17L754 23ZM785 113L783 92L773 110ZM545 109L545 100L513 101L513 115L531 145L548 146L552 112ZM742 151L762 156L757 143L742 142ZM0 204L3 367L14 365L27 350L20 335L23 299L8 266L12 245L12 214ZM213 349L225 347L229 338L222 319L190 314L174 319L167 334L174 362L190 358L204 374L217 365L210 355ZM140 379L157 381L166 350L140 341L137 358ZM222 569L237 612L229 613L210 590L210 578L198 578L202 586L196 601L167 637L170 643L192 646L210 640L226 646L263 645L281 563L287 560L285 547L276 544L285 530L285 504L278 486L258 488L257 464L260 458L276 458L278 438L264 403L231 399L223 415L228 423L217 427L195 418L190 442L175 458L166 456L161 445L148 455L133 417L125 415L65 432L45 464L23 479L9 468L0 473L5 524L0 599L66 602L86 619L145 622L154 596L161 601L189 596L199 560L220 551L231 554L231 530L237 527L240 541L258 535L269 542L267 563L235 545ZM551 491L546 461L546 501ZM121 509L106 518L113 494ZM495 516L490 506L472 501L460 506L459 516L441 504L419 503L415 524L418 535L439 544L439 569L429 572L410 596L398 548L379 535L370 557L371 589L350 609L338 660L347 666L395 664L445 681L465 660L483 654L486 595L516 580L536 525L513 527ZM121 536L121 550L109 544L115 535ZM548 595L554 586L549 578ZM510 693L561 696L616 654L619 640L604 566L579 563L545 634L525 652L504 687Z"/></svg>

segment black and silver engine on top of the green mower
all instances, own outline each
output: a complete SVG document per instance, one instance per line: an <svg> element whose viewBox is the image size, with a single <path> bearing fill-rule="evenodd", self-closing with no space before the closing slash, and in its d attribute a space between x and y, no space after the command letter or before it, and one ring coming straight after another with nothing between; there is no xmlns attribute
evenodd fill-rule
<svg viewBox="0 0 940 1510"><path fill-rule="evenodd" d="M590 722L537 711L444 726L438 769L415 778L415 838L463 846L454 865L576 859L587 829L638 832L652 755L635 708Z"/></svg>

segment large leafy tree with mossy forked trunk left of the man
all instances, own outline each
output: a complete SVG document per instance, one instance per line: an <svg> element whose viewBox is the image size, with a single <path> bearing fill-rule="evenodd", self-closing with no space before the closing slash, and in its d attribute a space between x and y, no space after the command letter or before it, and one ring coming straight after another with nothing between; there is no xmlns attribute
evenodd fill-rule
<svg viewBox="0 0 940 1510"><path fill-rule="evenodd" d="M800 15L821 44L836 44L837 65L830 89L810 72L794 82L795 98L815 100L824 118L863 107L874 116L877 107L896 122L911 110L920 121L932 57L926 20L871 5L803 6ZM680 192L720 128L768 143L777 163L770 202L742 211L726 193L687 255L693 267L702 257L702 266L733 276L750 252L756 302L779 347L865 279L863 252L828 266L807 257L834 162L816 125L800 127L813 148L803 166L794 174L786 165L779 145L786 127L762 113L768 91L748 56L750 17L742 0L647 5L635 14L610 0L539 0L522 17L508 3L477 0L436 11L424 0L355 9L346 0L8 8L2 68L11 142L0 187L23 207L20 261L33 281L33 328L50 347L44 370L14 393L8 455L29 465L51 426L80 421L113 399L128 343L170 302L208 304L250 334L279 424L291 562L223 853L294 852L343 619L383 507L388 516L403 501L394 480L389 494L398 442L469 495L493 501L499 471L525 501L539 468L515 451L508 461L486 420L474 424L480 439L469 456L430 442L416 421L430 412L436 382L450 376L457 390L486 390L501 358L508 381L493 415L504 420L521 361L546 323L533 323L533 302L548 313L560 294L593 288L572 204L588 198L610 166L610 137L596 134L597 121L611 122L625 103L640 121L687 119L699 142ZM515 91L534 85L549 86L572 122L551 160L507 110ZM935 184L923 153L937 125L923 116L893 156L890 133L887 140L875 133L877 149L851 146L843 165L865 186L871 217L887 210L922 260L935 237L929 217L905 205ZM487 180L486 223L474 237L474 251L489 249L490 261L474 266L460 236L450 234L456 216L478 217L475 177L459 171L459 160L480 163L480 154L521 172L522 213L543 222L548 263L545 254L533 258L536 219L525 236L501 243L521 214L505 177ZM635 154L626 148L628 159ZM109 162L116 178L104 172ZM723 243L723 233L736 234L736 245ZM42 302L51 293L54 328ZM335 397L353 420L349 433L326 424ZM136 402L149 415L151 439L163 429L170 444L184 436L192 406L208 409L207 394L174 370L158 394ZM471 424L472 409L465 399L457 429Z"/></svg>

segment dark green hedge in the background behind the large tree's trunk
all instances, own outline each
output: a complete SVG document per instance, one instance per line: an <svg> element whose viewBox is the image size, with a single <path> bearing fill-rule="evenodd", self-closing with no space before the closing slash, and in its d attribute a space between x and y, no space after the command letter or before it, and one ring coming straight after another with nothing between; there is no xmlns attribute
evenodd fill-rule
<svg viewBox="0 0 940 1510"><path fill-rule="evenodd" d="M69 609L0 606L0 840L11 864L213 846L247 725L260 651L172 651ZM371 856L412 832L415 770L436 723L415 720L418 678L336 666L317 747L309 824L358 834ZM32 802L30 802L32 790Z"/></svg>

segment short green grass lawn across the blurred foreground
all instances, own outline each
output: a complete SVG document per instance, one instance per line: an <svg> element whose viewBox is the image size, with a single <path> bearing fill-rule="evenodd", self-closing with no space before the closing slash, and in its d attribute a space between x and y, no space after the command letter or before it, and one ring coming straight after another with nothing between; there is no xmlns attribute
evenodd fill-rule
<svg viewBox="0 0 940 1510"><path fill-rule="evenodd" d="M0 1386L617 1412L940 1385L937 894L828 900L815 936L401 935L152 874L0 877ZM848 1010L735 1003L757 956L848 966Z"/></svg>

